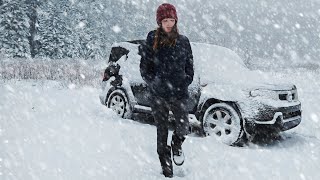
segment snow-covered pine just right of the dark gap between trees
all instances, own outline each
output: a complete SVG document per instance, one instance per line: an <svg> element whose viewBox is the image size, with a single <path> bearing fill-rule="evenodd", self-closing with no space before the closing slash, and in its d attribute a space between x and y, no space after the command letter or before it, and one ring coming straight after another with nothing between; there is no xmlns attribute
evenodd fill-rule
<svg viewBox="0 0 320 180"><path fill-rule="evenodd" d="M67 21L69 5L68 0L47 0L40 5L37 56L53 59L79 56L79 43Z"/></svg>

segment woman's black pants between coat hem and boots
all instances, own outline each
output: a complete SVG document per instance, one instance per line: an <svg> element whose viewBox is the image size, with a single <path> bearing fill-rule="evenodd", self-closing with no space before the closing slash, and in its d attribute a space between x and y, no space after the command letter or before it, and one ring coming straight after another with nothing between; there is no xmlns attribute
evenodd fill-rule
<svg viewBox="0 0 320 180"><path fill-rule="evenodd" d="M185 135L189 133L189 119L186 99L165 100L161 97L153 96L151 105L152 114L157 126L157 152L159 156L166 151L169 128L169 110L175 118L175 126L172 139L175 144L182 144Z"/></svg>

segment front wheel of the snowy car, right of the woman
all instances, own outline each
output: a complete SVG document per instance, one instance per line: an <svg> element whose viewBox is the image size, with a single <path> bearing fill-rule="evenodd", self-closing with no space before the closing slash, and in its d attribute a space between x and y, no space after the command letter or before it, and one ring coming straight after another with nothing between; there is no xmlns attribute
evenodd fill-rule
<svg viewBox="0 0 320 180"><path fill-rule="evenodd" d="M243 127L235 108L227 103L215 103L205 109L202 129L206 136L213 136L227 145L237 145L242 140Z"/></svg>

